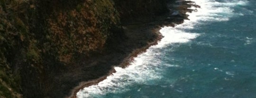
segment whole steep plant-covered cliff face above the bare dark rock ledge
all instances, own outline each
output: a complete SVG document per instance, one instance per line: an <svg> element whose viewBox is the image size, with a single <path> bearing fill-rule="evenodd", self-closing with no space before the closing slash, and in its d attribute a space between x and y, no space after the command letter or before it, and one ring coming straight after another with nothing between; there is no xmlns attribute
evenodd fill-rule
<svg viewBox="0 0 256 98"><path fill-rule="evenodd" d="M165 11L165 0L0 0L0 98L64 97L54 75L119 40L119 18Z"/></svg>

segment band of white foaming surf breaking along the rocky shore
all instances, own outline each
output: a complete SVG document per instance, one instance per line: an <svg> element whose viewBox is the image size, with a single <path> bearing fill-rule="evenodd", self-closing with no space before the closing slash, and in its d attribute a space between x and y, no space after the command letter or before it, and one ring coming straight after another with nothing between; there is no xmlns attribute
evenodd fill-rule
<svg viewBox="0 0 256 98"><path fill-rule="evenodd" d="M106 80L101 81L97 85L80 90L77 93L77 98L93 98L97 95L128 91L129 89L126 86L132 85L133 83L154 85L154 83L149 81L160 80L162 78L160 74L161 66L178 67L170 64L161 64L162 62L159 59L161 53L159 49L174 43L190 42L200 35L185 32L185 30L200 26L202 24L201 21L227 21L234 14L233 9L230 7L237 4L245 5L247 3L246 1L239 0L233 0L233 3L219 3L215 0L194 1L201 8L191 8L197 9L198 11L187 13L190 15L190 20L185 20L183 24L177 25L176 27L163 27L160 32L165 37L158 45L151 46L145 53L139 54L127 68L115 67L116 73L108 76ZM239 13L237 14L240 15Z"/></svg>

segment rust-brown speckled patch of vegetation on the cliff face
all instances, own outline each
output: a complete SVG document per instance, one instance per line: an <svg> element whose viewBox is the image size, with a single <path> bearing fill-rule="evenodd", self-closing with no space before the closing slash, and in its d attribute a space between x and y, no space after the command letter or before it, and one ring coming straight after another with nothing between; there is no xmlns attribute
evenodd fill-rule
<svg viewBox="0 0 256 98"><path fill-rule="evenodd" d="M110 27L119 22L118 14L109 0L88 0L75 9L60 10L54 18L47 18L49 43L55 43L56 55L61 62L73 61L77 53L103 48ZM47 44L48 45L48 44Z"/></svg>

